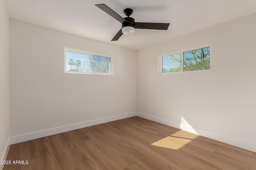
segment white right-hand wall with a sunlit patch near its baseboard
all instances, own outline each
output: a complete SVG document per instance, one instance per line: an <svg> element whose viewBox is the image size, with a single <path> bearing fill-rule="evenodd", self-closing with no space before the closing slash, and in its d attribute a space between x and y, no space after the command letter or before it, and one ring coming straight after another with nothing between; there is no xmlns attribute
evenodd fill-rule
<svg viewBox="0 0 256 170"><path fill-rule="evenodd" d="M137 111L255 146L255 40L252 14L138 50ZM159 54L209 43L211 70L158 74Z"/></svg>

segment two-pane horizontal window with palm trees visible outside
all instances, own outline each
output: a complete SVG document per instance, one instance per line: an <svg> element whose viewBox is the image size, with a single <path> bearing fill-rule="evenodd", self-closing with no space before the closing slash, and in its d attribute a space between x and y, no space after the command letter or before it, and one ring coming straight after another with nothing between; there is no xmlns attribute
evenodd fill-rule
<svg viewBox="0 0 256 170"><path fill-rule="evenodd" d="M111 57L64 48L65 72L112 75Z"/></svg>

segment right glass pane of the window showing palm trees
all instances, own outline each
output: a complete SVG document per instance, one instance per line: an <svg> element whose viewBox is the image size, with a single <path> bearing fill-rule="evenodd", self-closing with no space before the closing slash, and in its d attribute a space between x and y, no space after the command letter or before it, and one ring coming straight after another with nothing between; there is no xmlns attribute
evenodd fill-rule
<svg viewBox="0 0 256 170"><path fill-rule="evenodd" d="M110 73L110 57L92 55L92 72Z"/></svg>

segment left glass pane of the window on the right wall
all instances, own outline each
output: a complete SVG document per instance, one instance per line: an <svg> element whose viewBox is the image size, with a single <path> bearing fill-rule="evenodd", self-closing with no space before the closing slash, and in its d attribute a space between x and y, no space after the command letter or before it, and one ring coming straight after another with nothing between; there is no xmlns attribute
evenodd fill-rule
<svg viewBox="0 0 256 170"><path fill-rule="evenodd" d="M181 53L166 55L162 57L162 72L178 72L180 68Z"/></svg>

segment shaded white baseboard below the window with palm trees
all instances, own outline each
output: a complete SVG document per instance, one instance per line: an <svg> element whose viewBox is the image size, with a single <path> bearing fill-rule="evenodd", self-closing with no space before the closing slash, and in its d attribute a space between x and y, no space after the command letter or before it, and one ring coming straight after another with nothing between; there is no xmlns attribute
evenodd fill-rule
<svg viewBox="0 0 256 170"><path fill-rule="evenodd" d="M133 116L136 116L136 112L126 113L126 114L122 114L122 115L116 115L116 116L112 116L112 117L105 117L102 119L95 119L95 120L85 121L85 122L81 122L81 123L75 123L72 125L56 127L56 128L46 129L46 130L42 130L42 131L36 131L36 132L32 132L32 133L26 133L23 135L10 137L10 145L15 144L15 143L24 142L24 141L30 141L32 139L38 139L41 137L55 135L58 133L72 131L75 129L98 125L101 123L106 123L106 122L115 121L115 120L119 120L119 119L125 119L125 118L133 117Z"/></svg>

